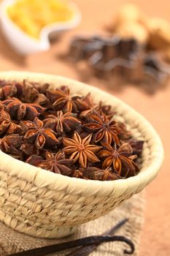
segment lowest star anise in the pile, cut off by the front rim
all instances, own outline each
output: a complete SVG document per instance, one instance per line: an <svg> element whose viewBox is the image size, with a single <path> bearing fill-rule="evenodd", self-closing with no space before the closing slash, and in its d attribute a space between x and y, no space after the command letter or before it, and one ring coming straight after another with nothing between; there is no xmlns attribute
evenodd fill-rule
<svg viewBox="0 0 170 256"><path fill-rule="evenodd" d="M83 178L93 179L98 181L115 181L116 179L122 178L117 173L112 172L111 167L107 167L101 170L97 167L87 167L85 169L80 168L82 171Z"/></svg>

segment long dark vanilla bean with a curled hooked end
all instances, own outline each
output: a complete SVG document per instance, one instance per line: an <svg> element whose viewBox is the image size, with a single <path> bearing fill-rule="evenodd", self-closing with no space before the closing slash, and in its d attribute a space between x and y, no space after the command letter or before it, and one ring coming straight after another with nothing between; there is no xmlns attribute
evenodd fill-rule
<svg viewBox="0 0 170 256"><path fill-rule="evenodd" d="M98 245L102 243L112 242L112 241L122 241L131 247L131 250L125 250L126 254L131 254L134 252L134 244L128 238L124 236L88 236L87 238L80 238L74 241L64 242L61 244L53 244L50 246L43 246L36 249L29 249L25 252L18 252L9 256L45 256L50 253L60 252L65 249L71 249L77 246L89 246Z"/></svg>

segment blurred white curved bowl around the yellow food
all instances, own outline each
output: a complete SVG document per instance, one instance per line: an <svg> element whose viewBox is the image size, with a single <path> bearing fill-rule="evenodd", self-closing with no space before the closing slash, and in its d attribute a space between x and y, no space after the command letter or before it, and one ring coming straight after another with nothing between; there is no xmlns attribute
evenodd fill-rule
<svg viewBox="0 0 170 256"><path fill-rule="evenodd" d="M20 54L28 55L31 53L37 53L43 50L50 49L49 36L52 33L59 33L61 31L67 31L73 29L80 23L81 13L77 5L70 1L69 6L72 8L74 15L69 21L51 23L44 26L39 34L39 39L29 36L15 24L7 14L7 7L15 4L17 0L4 0L0 4L0 19L1 29L4 36L7 37L10 45Z"/></svg>

